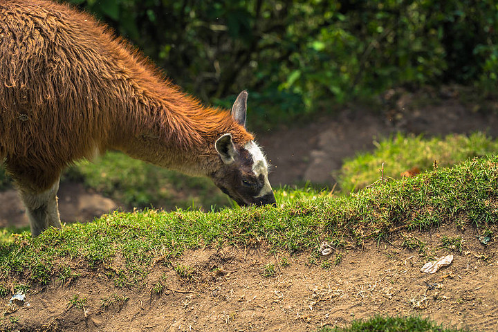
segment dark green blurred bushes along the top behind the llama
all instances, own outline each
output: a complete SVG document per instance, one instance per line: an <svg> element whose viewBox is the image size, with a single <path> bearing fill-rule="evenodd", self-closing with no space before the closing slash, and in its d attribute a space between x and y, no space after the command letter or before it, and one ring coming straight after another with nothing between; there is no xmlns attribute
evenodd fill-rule
<svg viewBox="0 0 498 332"><path fill-rule="evenodd" d="M66 0L130 39L183 88L252 125L291 122L391 86L494 91L492 0ZM232 96L232 97L230 97Z"/></svg>

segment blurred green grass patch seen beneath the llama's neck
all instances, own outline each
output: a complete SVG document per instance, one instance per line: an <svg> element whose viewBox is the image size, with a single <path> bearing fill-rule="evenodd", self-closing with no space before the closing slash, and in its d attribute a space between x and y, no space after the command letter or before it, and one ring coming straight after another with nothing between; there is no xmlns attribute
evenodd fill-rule
<svg viewBox="0 0 498 332"><path fill-rule="evenodd" d="M163 206L209 209L230 201L208 178L194 178L109 151L93 163L82 161L66 178L82 181L102 194L134 208Z"/></svg>

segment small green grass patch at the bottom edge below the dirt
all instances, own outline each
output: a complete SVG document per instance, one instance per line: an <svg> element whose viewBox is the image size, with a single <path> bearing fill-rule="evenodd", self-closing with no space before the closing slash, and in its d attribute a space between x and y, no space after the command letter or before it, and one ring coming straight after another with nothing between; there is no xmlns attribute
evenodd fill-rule
<svg viewBox="0 0 498 332"><path fill-rule="evenodd" d="M355 320L347 327L326 326L319 332L459 332L463 329L445 329L427 318L374 316L368 320Z"/></svg>

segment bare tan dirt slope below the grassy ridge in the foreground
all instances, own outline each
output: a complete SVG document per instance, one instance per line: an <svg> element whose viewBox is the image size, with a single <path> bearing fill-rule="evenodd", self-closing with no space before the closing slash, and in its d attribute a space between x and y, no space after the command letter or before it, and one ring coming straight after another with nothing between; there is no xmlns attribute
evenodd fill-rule
<svg viewBox="0 0 498 332"><path fill-rule="evenodd" d="M131 289L114 286L104 270L81 270L75 282L33 288L29 306L3 306L0 326L3 331L313 331L380 313L497 331L497 241L484 246L473 228L409 235L426 244L425 255L403 248L401 237L318 258L268 256L262 249L193 250L173 263L188 273L180 276L159 262ZM443 236L461 237L461 252L442 248ZM420 272L426 256L449 253L450 266L434 275ZM342 261L334 266L336 254ZM285 260L288 266L282 266ZM274 275L268 276L268 264L274 264Z"/></svg>

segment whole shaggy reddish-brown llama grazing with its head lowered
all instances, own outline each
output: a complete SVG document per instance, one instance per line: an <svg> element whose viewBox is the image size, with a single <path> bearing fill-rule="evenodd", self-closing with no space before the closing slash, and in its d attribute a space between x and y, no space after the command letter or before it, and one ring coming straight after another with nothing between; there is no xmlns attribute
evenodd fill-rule
<svg viewBox="0 0 498 332"><path fill-rule="evenodd" d="M275 204L268 164L232 112L203 107L106 26L67 5L0 0L0 160L31 233L61 227L62 169L107 149L208 176L239 205Z"/></svg>

